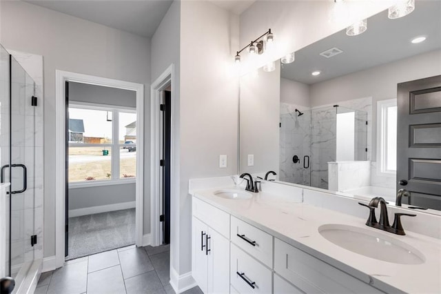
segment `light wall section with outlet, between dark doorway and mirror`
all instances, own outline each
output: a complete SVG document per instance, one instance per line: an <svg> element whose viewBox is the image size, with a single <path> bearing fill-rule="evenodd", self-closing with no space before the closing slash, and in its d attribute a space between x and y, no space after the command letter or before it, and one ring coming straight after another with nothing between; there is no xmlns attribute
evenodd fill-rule
<svg viewBox="0 0 441 294"><path fill-rule="evenodd" d="M208 1L181 2L181 195L178 273L191 271L188 180L237 173L238 17ZM227 168L219 168L227 155Z"/></svg>

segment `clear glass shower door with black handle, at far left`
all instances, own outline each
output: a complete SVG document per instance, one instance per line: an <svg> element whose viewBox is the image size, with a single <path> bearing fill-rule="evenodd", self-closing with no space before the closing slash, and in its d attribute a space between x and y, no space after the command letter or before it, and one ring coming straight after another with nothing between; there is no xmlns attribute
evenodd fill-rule
<svg viewBox="0 0 441 294"><path fill-rule="evenodd" d="M34 260L35 83L11 58L10 272L17 280Z"/></svg>

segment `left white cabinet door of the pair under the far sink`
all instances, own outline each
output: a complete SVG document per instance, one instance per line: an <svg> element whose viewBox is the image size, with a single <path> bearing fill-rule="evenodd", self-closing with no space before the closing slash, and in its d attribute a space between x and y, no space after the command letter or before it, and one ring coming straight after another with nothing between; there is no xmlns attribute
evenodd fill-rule
<svg viewBox="0 0 441 294"><path fill-rule="evenodd" d="M192 221L192 275L203 293L207 293L207 225L196 217Z"/></svg>

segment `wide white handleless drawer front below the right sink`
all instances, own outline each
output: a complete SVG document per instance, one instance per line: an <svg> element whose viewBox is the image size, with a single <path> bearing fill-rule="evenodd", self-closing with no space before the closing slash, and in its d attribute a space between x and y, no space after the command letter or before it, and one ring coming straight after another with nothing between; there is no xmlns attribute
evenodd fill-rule
<svg viewBox="0 0 441 294"><path fill-rule="evenodd" d="M274 271L306 293L382 293L277 238Z"/></svg>

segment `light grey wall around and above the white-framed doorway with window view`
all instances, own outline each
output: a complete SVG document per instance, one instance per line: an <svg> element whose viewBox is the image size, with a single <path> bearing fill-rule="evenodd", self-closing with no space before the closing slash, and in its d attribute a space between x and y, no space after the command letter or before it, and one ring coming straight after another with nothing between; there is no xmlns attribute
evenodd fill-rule
<svg viewBox="0 0 441 294"><path fill-rule="evenodd" d="M150 87L150 40L121 30L54 12L23 1L1 1L0 43L43 55L44 59L44 256L55 254L55 70L121 79ZM145 99L150 91L145 90ZM145 103L150 113L150 103ZM149 154L150 119L145 118L145 153ZM145 158L149 166L150 157ZM145 169L145 190L150 170ZM146 194L145 204L150 204ZM150 221L145 210L144 221ZM145 226L148 233L149 227Z"/></svg>

